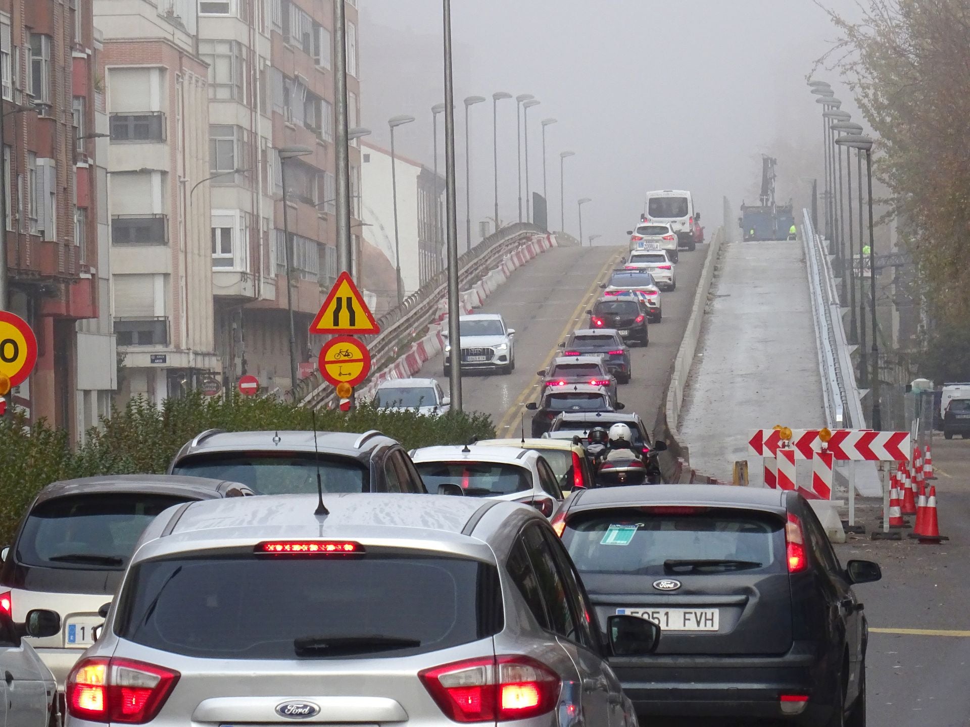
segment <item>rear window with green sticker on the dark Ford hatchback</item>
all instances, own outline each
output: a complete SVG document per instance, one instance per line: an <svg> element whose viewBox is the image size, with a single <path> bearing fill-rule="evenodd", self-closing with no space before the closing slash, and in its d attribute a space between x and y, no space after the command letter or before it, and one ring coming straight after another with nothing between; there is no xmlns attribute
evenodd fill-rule
<svg viewBox="0 0 970 727"><path fill-rule="evenodd" d="M777 516L747 510L634 508L578 515L563 543L581 573L781 572L783 527Z"/></svg>

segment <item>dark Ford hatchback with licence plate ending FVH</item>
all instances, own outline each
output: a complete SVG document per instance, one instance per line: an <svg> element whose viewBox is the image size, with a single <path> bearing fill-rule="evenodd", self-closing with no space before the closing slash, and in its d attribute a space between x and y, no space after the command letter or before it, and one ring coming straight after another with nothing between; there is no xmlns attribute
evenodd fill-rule
<svg viewBox="0 0 970 727"><path fill-rule="evenodd" d="M638 714L864 726L868 632L852 585L882 574L843 567L797 492L578 490L553 525L599 622L661 626L649 659L610 660Z"/></svg>

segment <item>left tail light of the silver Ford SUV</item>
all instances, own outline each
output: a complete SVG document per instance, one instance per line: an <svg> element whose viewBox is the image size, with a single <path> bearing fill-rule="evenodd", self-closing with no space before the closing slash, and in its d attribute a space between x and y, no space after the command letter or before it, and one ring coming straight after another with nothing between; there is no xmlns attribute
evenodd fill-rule
<svg viewBox="0 0 970 727"><path fill-rule="evenodd" d="M180 676L116 656L82 659L67 678L67 711L92 722L143 724L162 709Z"/></svg>

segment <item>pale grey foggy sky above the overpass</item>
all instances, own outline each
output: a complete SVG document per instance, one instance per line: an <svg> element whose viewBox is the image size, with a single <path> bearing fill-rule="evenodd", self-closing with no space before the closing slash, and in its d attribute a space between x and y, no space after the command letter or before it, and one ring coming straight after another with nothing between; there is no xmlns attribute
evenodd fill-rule
<svg viewBox="0 0 970 727"><path fill-rule="evenodd" d="M851 10L852 3L829 5ZM361 0L360 9L361 124L373 130L373 142L387 144L389 116L416 116L396 133L397 147L431 167L430 107L443 101L441 2ZM382 26L379 44L367 35L374 25ZM712 233L723 196L735 212L742 198L754 202L761 151L821 146L821 110L805 77L836 32L812 0L452 0L452 32L463 241L468 95L489 99L471 109L473 229L494 207L494 91L541 101L530 111L533 190L541 191L539 121L558 119L547 130L550 227L559 227L559 152L570 149L566 230L577 235L576 200L593 198L583 208L583 232L602 235L598 244L625 242L653 189L692 190ZM424 51L420 62L414 44ZM850 100L837 73L818 78ZM514 100L499 104L499 146L507 222L518 217ZM443 174L440 142L439 154ZM804 164L812 153L800 156ZM819 170L801 174L821 174L821 149L816 156ZM779 175L791 177L786 162L779 158ZM801 190L779 192L787 199Z"/></svg>

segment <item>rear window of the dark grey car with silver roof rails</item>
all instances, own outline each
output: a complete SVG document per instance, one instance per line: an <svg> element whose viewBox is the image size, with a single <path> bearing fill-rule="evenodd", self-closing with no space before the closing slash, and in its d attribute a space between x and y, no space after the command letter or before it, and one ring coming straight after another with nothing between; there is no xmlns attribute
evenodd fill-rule
<svg viewBox="0 0 970 727"><path fill-rule="evenodd" d="M320 480L325 492L365 492L370 489L367 468L356 459L321 455ZM316 492L313 454L225 453L185 459L173 474L242 482L259 494Z"/></svg>

